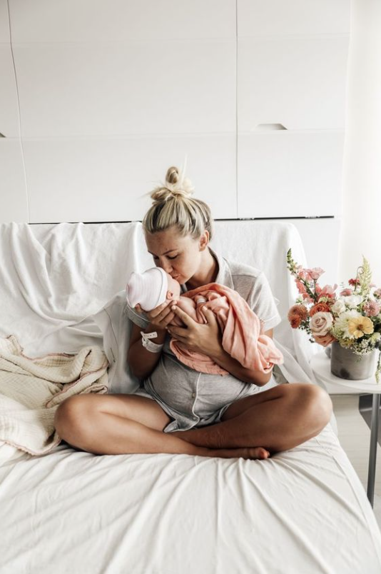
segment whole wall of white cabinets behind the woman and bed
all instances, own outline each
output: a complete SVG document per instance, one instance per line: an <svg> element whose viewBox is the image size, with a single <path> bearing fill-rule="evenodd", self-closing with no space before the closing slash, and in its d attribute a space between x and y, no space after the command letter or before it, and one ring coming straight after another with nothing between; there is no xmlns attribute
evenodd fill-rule
<svg viewBox="0 0 381 574"><path fill-rule="evenodd" d="M336 216L349 26L350 0L0 0L0 133L29 200L7 217L141 219L186 156L215 218Z"/></svg>

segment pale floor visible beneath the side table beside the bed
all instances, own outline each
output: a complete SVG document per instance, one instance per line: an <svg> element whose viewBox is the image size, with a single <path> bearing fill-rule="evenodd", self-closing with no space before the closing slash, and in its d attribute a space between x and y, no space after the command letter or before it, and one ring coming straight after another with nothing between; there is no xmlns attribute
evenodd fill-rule
<svg viewBox="0 0 381 574"><path fill-rule="evenodd" d="M330 395L337 421L337 430L342 448L355 468L362 485L367 490L367 468L369 463L370 428L360 413L359 395ZM361 401L364 402L363 400ZM366 417L370 421L370 417ZM375 476L375 500L373 510L381 529L381 447L377 445L377 466Z"/></svg>

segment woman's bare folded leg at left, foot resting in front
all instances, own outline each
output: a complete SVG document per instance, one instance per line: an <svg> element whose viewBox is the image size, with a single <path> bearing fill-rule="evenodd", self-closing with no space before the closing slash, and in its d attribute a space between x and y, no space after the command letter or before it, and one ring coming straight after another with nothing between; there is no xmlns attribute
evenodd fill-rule
<svg viewBox="0 0 381 574"><path fill-rule="evenodd" d="M161 407L148 398L134 399L138 401L126 395L96 394L66 399L56 411L54 424L57 433L67 443L93 454L183 453L220 458L267 458L269 455L264 448L205 448L188 443L173 433L163 433L158 429L165 427L171 419ZM131 410L132 404L135 409ZM138 406L150 411L146 418ZM109 412L112 408L118 414ZM121 416L122 412L141 416L151 427Z"/></svg>

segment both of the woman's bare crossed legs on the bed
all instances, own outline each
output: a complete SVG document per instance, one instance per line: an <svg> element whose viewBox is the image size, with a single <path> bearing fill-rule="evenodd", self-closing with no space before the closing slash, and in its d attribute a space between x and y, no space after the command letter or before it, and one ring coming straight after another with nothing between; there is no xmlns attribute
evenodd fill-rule
<svg viewBox="0 0 381 574"><path fill-rule="evenodd" d="M322 388L278 385L233 403L222 422L163 433L171 418L149 398L114 394L72 396L54 425L66 442L94 454L185 453L221 458L267 458L313 438L330 421Z"/></svg>

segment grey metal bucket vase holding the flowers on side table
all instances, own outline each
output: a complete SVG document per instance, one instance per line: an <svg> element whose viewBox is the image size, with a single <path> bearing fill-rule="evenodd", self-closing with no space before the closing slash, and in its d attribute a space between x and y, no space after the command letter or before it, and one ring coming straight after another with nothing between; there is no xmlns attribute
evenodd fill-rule
<svg viewBox="0 0 381 574"><path fill-rule="evenodd" d="M375 375L376 363L376 349L366 355L355 355L350 349L340 346L337 341L332 342L331 373L337 377L350 381L370 378Z"/></svg>

